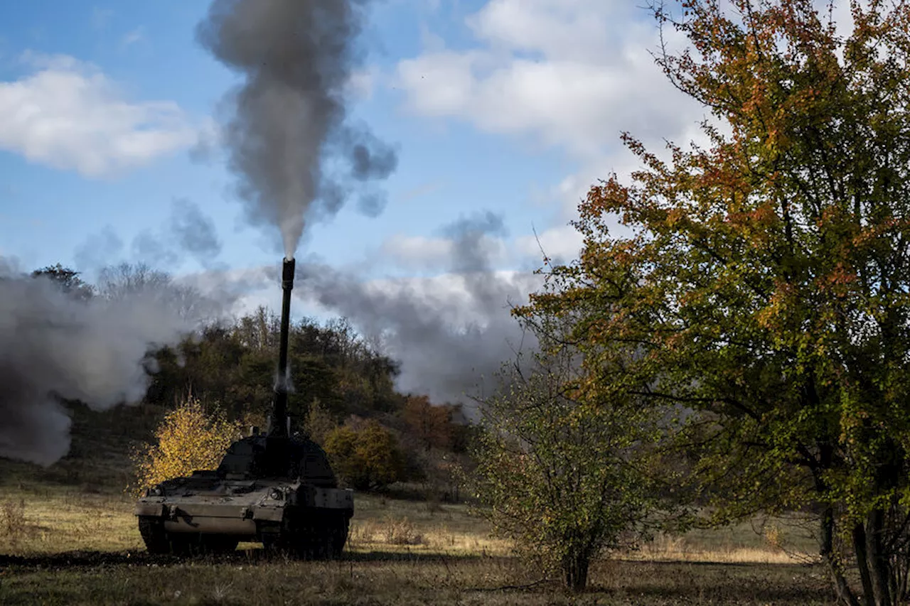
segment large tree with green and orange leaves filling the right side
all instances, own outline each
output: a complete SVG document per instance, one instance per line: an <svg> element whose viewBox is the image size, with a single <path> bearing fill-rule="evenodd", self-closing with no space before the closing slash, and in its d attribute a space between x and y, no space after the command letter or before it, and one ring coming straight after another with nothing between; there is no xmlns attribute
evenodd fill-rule
<svg viewBox="0 0 910 606"><path fill-rule="evenodd" d="M838 600L883 606L910 568L910 5L850 7L840 37L811 0L655 6L708 143L623 136L642 167L591 188L533 305L584 317L592 392L692 412L719 519L812 508Z"/></svg>

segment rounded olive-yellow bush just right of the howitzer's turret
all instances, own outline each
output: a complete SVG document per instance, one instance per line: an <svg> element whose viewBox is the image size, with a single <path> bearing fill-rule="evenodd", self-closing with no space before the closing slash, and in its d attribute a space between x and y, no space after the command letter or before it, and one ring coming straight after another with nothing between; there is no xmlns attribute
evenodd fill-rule
<svg viewBox="0 0 910 606"><path fill-rule="evenodd" d="M333 429L323 446L332 468L354 489L381 490L407 480L398 439L375 420L359 428L345 425Z"/></svg>

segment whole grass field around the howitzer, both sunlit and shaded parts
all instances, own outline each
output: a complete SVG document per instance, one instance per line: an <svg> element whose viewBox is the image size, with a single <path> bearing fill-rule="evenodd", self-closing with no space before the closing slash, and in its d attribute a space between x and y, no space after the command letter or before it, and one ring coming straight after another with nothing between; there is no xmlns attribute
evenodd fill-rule
<svg viewBox="0 0 910 606"><path fill-rule="evenodd" d="M813 540L788 520L658 537L597 562L579 595L511 557L465 505L365 494L340 561L288 561L251 543L217 559L150 556L124 492L127 440L116 423L89 421L100 429L76 432L73 454L49 469L0 460L2 606L833 603Z"/></svg>

